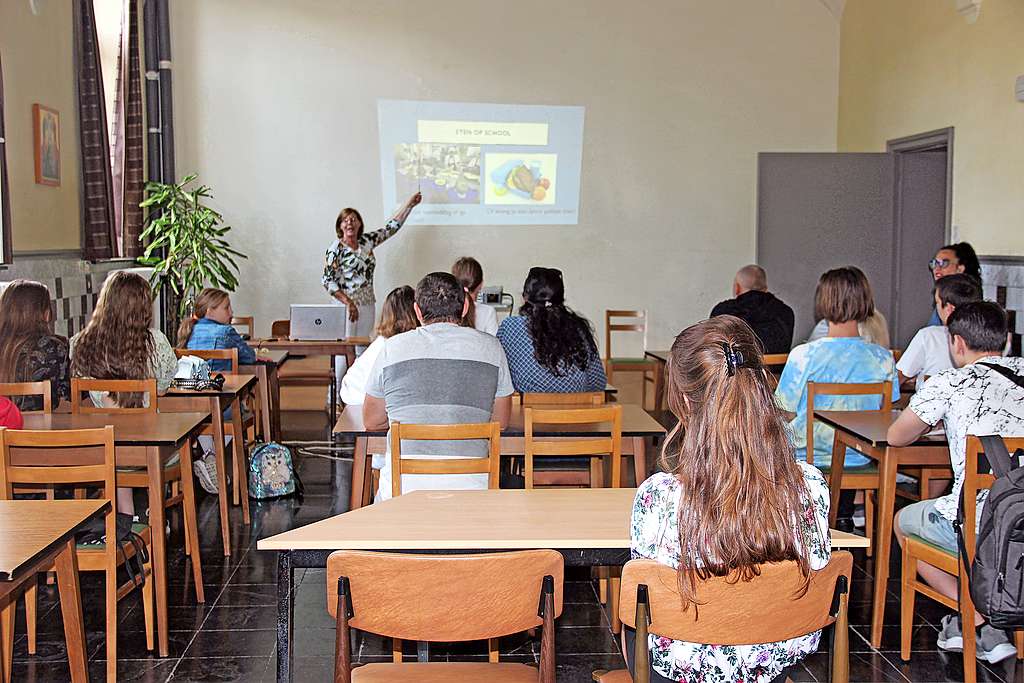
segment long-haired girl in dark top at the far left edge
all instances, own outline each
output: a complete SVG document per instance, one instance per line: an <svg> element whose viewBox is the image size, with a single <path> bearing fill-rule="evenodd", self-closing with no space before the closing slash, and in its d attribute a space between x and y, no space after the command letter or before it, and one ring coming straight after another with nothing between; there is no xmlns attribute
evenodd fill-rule
<svg viewBox="0 0 1024 683"><path fill-rule="evenodd" d="M68 340L53 334L50 292L42 283L15 280L0 296L0 382L49 380L53 408L71 397ZM40 411L41 396L17 396L23 411Z"/></svg>

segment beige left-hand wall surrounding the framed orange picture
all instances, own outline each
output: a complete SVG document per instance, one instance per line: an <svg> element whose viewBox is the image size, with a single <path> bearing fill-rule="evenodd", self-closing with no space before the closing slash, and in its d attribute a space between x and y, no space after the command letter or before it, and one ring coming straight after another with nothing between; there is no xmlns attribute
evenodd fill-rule
<svg viewBox="0 0 1024 683"><path fill-rule="evenodd" d="M71 2L0 2L4 119L15 252L75 250L81 244L78 109ZM32 105L60 113L60 186L36 184Z"/></svg>

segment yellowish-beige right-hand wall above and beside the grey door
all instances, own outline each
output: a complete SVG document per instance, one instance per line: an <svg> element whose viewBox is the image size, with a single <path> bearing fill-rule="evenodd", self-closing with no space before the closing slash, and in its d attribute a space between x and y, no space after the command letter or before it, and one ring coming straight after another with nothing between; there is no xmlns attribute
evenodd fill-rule
<svg viewBox="0 0 1024 683"><path fill-rule="evenodd" d="M953 126L954 238L1024 255L1024 3L985 0L968 24L949 0L846 3L839 148Z"/></svg>

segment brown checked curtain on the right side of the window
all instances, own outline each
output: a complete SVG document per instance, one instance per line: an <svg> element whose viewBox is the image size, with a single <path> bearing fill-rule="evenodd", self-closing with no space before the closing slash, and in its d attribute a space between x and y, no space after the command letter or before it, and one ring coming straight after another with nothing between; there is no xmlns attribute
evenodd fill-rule
<svg viewBox="0 0 1024 683"><path fill-rule="evenodd" d="M114 217L119 256L141 256L142 232L142 71L139 67L138 0L124 0L121 11L121 51L114 101L113 165Z"/></svg>

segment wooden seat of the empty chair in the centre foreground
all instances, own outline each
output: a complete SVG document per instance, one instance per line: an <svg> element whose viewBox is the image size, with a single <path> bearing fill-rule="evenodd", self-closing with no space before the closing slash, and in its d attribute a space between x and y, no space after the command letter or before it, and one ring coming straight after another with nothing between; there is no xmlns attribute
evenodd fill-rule
<svg viewBox="0 0 1024 683"><path fill-rule="evenodd" d="M423 664L368 664L352 670L359 683L537 683L537 668L524 664L477 661L427 661Z"/></svg>

